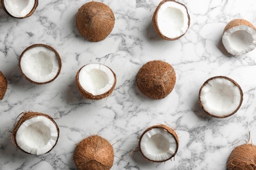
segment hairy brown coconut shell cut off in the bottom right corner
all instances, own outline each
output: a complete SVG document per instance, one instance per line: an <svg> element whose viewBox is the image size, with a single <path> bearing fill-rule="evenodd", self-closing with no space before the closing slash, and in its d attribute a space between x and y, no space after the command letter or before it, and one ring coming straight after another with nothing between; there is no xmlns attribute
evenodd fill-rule
<svg viewBox="0 0 256 170"><path fill-rule="evenodd" d="M242 144L232 150L227 163L228 170L256 169L256 146Z"/></svg>

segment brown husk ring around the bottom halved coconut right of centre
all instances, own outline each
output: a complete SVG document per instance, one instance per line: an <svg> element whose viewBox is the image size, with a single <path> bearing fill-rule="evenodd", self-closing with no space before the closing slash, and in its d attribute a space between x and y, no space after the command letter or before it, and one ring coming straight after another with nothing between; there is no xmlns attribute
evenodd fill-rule
<svg viewBox="0 0 256 170"><path fill-rule="evenodd" d="M177 148L176 148L174 154L173 154L170 158L168 158L168 159L166 159L166 160L162 160L162 161L150 160L150 159L148 159L148 158L143 154L143 152L142 152L142 150L141 150L141 148L140 148L140 143L141 143L141 139L142 139L143 135L144 135L146 132L150 131L151 129L155 129L155 128L163 129L163 130L167 131L168 133L170 133L170 134L173 136L173 138L174 138L175 141L176 141ZM142 154L142 156L143 156L146 160L148 160L148 161L152 161L152 162L164 162L164 161L171 160L171 158L174 158L175 155L177 154L178 148L179 148L179 137L178 137L177 133L175 132L174 129L171 129L171 127L165 126L165 125L163 125L163 124L148 127L148 128L142 133L142 135L140 135L140 138L139 138L139 151L140 151L140 154Z"/></svg>

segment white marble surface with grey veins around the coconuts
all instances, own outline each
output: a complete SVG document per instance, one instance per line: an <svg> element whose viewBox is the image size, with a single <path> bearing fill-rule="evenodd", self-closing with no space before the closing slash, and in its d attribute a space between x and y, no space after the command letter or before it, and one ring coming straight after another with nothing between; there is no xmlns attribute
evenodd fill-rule
<svg viewBox="0 0 256 170"><path fill-rule="evenodd" d="M113 170L226 169L230 152L247 141L249 131L256 143L256 50L234 57L221 42L230 20L256 25L255 0L179 0L191 23L177 41L160 39L152 27L160 0L100 0L116 17L113 31L100 42L83 39L75 25L77 10L87 2L39 1L35 13L23 20L0 9L0 70L8 80L0 101L0 169L76 169L75 144L93 134L113 144ZM53 46L62 58L62 71L49 84L28 82L17 67L22 51L36 43ZM177 74L173 92L161 100L145 97L135 82L140 67L155 59L170 63ZM110 97L83 99L75 74L87 63L104 63L116 73ZM240 110L224 119L205 115L198 104L200 86L217 75L234 79L244 92ZM11 144L16 116L29 110L56 118L60 138L49 154L24 154ZM177 156L165 163L146 161L134 150L144 129L156 124L169 125L179 135Z"/></svg>

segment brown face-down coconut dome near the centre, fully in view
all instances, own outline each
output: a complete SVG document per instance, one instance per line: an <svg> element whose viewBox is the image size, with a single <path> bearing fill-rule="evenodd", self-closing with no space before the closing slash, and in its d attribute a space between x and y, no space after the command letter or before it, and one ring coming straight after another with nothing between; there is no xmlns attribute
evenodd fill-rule
<svg viewBox="0 0 256 170"><path fill-rule="evenodd" d="M175 82L175 71L165 61L149 61L137 74L137 85L140 91L152 99L163 99L169 95Z"/></svg>

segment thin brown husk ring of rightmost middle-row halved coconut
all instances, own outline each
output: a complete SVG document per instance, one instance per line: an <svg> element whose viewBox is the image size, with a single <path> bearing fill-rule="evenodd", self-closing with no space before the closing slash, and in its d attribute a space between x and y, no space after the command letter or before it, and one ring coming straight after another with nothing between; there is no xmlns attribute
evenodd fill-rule
<svg viewBox="0 0 256 170"><path fill-rule="evenodd" d="M216 116L214 114L211 114L211 112L208 112L205 107L203 107L203 104L202 104L202 101L201 101L201 93L202 93L202 89L203 87L205 86L205 84L208 84L209 81L215 79L215 78L224 78L226 80L229 80L230 82L232 82L235 86L238 87L239 89L239 92L240 92L240 95L241 95L241 99L240 99L240 104L238 106L238 108L236 110L234 110L234 112L231 112L230 114L226 115L226 116ZM235 114L238 109L240 109L241 105L242 105L242 102L243 102L243 99L244 99L244 94L243 94L243 91L242 91L242 88L239 86L239 84L237 82L235 82L235 80L233 80L232 78L229 78L227 76L213 76L211 78L209 78L208 80L206 80L203 85L201 86L200 90L199 90L199 94L198 94L198 101L199 101L199 104L200 106L202 107L203 111L207 114L209 114L210 116L213 116L215 118L226 118L228 116L232 116L233 114Z"/></svg>

